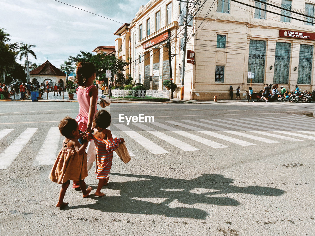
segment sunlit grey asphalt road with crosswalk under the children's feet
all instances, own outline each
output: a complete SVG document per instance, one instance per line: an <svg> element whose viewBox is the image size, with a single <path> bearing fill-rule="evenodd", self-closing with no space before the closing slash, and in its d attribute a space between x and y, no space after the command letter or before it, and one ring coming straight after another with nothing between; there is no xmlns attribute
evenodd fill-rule
<svg viewBox="0 0 315 236"><path fill-rule="evenodd" d="M99 108L100 109L100 108ZM48 179L70 102L0 103L0 235L315 235L315 103L106 108L132 154L96 197ZM119 123L119 114L154 123ZM129 118L128 118L129 119ZM135 119L135 118L134 118ZM135 120L134 120L135 121Z"/></svg>

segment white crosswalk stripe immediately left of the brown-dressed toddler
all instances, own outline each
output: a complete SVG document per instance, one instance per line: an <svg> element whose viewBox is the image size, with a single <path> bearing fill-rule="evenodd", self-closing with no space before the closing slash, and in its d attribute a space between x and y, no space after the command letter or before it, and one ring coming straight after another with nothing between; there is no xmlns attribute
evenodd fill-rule
<svg viewBox="0 0 315 236"><path fill-rule="evenodd" d="M52 165L56 160L59 139L61 137L58 127L51 127L47 133L45 141L39 150L33 166Z"/></svg>

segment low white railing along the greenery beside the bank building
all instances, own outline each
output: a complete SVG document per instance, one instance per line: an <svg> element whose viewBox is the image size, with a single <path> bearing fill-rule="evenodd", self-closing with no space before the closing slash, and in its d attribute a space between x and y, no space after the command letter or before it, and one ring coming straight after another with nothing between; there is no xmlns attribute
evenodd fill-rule
<svg viewBox="0 0 315 236"><path fill-rule="evenodd" d="M112 90L116 98L169 98L169 94L169 90Z"/></svg>

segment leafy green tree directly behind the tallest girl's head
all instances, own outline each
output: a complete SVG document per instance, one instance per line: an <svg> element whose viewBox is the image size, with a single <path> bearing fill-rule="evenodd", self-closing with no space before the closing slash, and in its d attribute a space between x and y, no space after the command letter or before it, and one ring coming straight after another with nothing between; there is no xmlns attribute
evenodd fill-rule
<svg viewBox="0 0 315 236"><path fill-rule="evenodd" d="M80 51L75 57L70 56L69 60L77 64L80 61L91 62L96 67L96 77L100 81L104 81L105 85L108 85L106 78L106 70L112 72L112 82L114 76L121 76L121 72L125 70L125 66L129 65L128 62L117 59L114 55L106 56L106 53L97 53L96 55L88 52Z"/></svg>

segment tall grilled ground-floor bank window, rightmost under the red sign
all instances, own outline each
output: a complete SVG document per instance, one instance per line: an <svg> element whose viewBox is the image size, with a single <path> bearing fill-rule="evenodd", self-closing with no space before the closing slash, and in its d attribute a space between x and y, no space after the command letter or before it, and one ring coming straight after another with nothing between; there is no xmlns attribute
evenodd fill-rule
<svg viewBox="0 0 315 236"><path fill-rule="evenodd" d="M298 84L311 84L313 45L300 44Z"/></svg>

